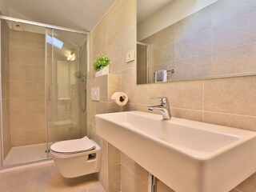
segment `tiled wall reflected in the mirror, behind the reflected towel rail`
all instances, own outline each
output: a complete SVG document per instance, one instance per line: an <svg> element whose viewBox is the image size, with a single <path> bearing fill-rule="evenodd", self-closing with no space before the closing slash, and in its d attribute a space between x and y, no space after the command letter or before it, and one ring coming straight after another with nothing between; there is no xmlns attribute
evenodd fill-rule
<svg viewBox="0 0 256 192"><path fill-rule="evenodd" d="M168 81L256 73L255 1L238 2L236 12L222 2L142 40L150 44L150 82L156 70L175 70Z"/></svg>

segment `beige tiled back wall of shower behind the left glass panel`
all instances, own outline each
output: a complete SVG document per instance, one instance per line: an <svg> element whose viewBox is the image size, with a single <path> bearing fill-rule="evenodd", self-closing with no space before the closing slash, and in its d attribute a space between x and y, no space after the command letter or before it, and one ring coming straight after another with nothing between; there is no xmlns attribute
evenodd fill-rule
<svg viewBox="0 0 256 192"><path fill-rule="evenodd" d="M45 142L45 36L10 30L11 145Z"/></svg>

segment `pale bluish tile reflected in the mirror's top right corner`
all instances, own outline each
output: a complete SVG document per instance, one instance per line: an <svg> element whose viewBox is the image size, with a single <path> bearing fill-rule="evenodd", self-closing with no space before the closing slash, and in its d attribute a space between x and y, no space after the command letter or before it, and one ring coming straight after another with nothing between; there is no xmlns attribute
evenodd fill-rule
<svg viewBox="0 0 256 192"><path fill-rule="evenodd" d="M254 12L256 2L254 0L222 0L213 4L213 23L218 26L231 19L240 18Z"/></svg>

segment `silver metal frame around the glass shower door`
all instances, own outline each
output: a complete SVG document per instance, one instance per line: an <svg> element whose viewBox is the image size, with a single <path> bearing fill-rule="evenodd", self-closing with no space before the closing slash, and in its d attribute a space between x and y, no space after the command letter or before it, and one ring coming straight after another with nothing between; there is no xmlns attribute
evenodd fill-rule
<svg viewBox="0 0 256 192"><path fill-rule="evenodd" d="M1 46L1 42L2 42L2 35L1 35L1 31L2 31L2 28L1 28L1 22L2 20L6 20L6 21L10 21L10 22L21 22L21 23L24 23L24 24L29 24L29 25L32 25L32 26L42 26L45 28L45 37L47 35L47 30L63 30L63 31L68 31L68 32L72 32L72 33L77 33L77 34L85 34L87 35L87 37L89 36L90 34L90 31L89 30L74 30L74 29L70 29L70 28L66 28L66 27L62 27L62 26L54 26L54 25L49 25L49 24L45 24L45 23L42 23L42 22L32 22L32 21L28 21L28 20L25 20L25 19L20 19L20 18L11 18L11 17L6 17L6 16L3 16L3 15L0 15L0 58L2 58L2 46ZM87 50L87 53L89 53L89 49L90 49L90 46L89 46L89 43L90 43L90 38L87 38L87 42L86 42L86 50ZM52 50L53 51L53 50ZM87 54L87 58L90 58L89 54ZM2 59L0 59L0 67L2 66ZM87 65L88 65L88 62L89 60L87 60ZM3 162L4 162L4 155L3 155L3 131L2 131L2 69L0 68L0 117L1 117L1 122L0 122L0 129L1 129L1 159L0 159L0 170L3 170L3 169L8 169L10 167L13 167L13 166L21 166L21 165L26 165L26 164L30 164L30 163L34 163L34 162L41 162L43 160L46 160L46 159L49 159L49 145L48 145L48 142L49 142L49 138L48 138L48 118L47 118L47 101L48 101L48 98L49 98L49 90L48 90L48 84L47 84L47 79L48 79L48 73L47 73L47 70L48 70L48 66L47 66L47 41L45 39L45 108L46 108L46 117L45 117L45 121L46 121L46 150L47 150L47 155L46 155L46 158L43 158L43 159L39 159L39 160L35 160L35 161L32 161L32 162L22 162L22 163L18 163L18 164L14 164L14 165L11 165L11 166L7 166L7 165L4 165ZM87 68L87 73L88 73L88 68Z"/></svg>

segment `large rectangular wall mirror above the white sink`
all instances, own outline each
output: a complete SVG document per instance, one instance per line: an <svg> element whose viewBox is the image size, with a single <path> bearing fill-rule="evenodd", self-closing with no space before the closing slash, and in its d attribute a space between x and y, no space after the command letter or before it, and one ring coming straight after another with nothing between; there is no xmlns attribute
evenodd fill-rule
<svg viewBox="0 0 256 192"><path fill-rule="evenodd" d="M137 84L256 74L254 48L237 49L252 28L222 1L138 0Z"/></svg>

